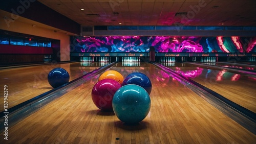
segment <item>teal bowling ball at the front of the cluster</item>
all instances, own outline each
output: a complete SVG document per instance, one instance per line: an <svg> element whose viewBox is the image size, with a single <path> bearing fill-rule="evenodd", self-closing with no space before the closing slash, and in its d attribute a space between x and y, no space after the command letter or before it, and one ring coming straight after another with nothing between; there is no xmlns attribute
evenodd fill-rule
<svg viewBox="0 0 256 144"><path fill-rule="evenodd" d="M116 91L112 105L120 121L126 124L137 124L150 112L151 100L144 88L128 84Z"/></svg>

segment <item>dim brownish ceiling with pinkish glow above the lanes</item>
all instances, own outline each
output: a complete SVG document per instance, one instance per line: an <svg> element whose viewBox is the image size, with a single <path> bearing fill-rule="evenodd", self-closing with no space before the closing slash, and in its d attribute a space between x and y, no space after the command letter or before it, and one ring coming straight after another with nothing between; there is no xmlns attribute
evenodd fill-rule
<svg viewBox="0 0 256 144"><path fill-rule="evenodd" d="M82 26L256 26L255 0L39 0L39 2Z"/></svg>

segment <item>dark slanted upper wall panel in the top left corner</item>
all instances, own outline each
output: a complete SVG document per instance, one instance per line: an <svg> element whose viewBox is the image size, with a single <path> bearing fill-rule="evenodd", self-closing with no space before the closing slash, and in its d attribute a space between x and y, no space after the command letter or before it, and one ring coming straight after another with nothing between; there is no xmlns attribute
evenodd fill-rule
<svg viewBox="0 0 256 144"><path fill-rule="evenodd" d="M59 14L35 0L2 1L0 9L10 12L11 14L8 17L13 20L18 18L18 16L13 15L16 14L60 30L80 35L79 23Z"/></svg>

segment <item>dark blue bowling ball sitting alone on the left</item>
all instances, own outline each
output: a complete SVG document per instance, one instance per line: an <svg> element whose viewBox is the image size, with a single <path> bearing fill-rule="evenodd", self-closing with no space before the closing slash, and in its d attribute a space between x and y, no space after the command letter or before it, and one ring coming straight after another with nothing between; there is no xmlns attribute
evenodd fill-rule
<svg viewBox="0 0 256 144"><path fill-rule="evenodd" d="M69 73L61 67L54 68L48 74L48 82L53 87L59 87L69 82Z"/></svg>

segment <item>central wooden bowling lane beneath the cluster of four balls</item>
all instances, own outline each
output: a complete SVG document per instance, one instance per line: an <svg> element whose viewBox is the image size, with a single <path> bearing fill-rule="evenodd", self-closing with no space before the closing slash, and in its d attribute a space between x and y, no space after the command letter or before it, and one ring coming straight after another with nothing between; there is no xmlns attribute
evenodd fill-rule
<svg viewBox="0 0 256 144"><path fill-rule="evenodd" d="M139 71L152 81L151 110L125 125L93 104L100 75L8 129L8 143L253 143L256 136L152 64L111 67L124 77ZM1 134L3 135L3 133ZM0 143L3 143L3 138Z"/></svg>

